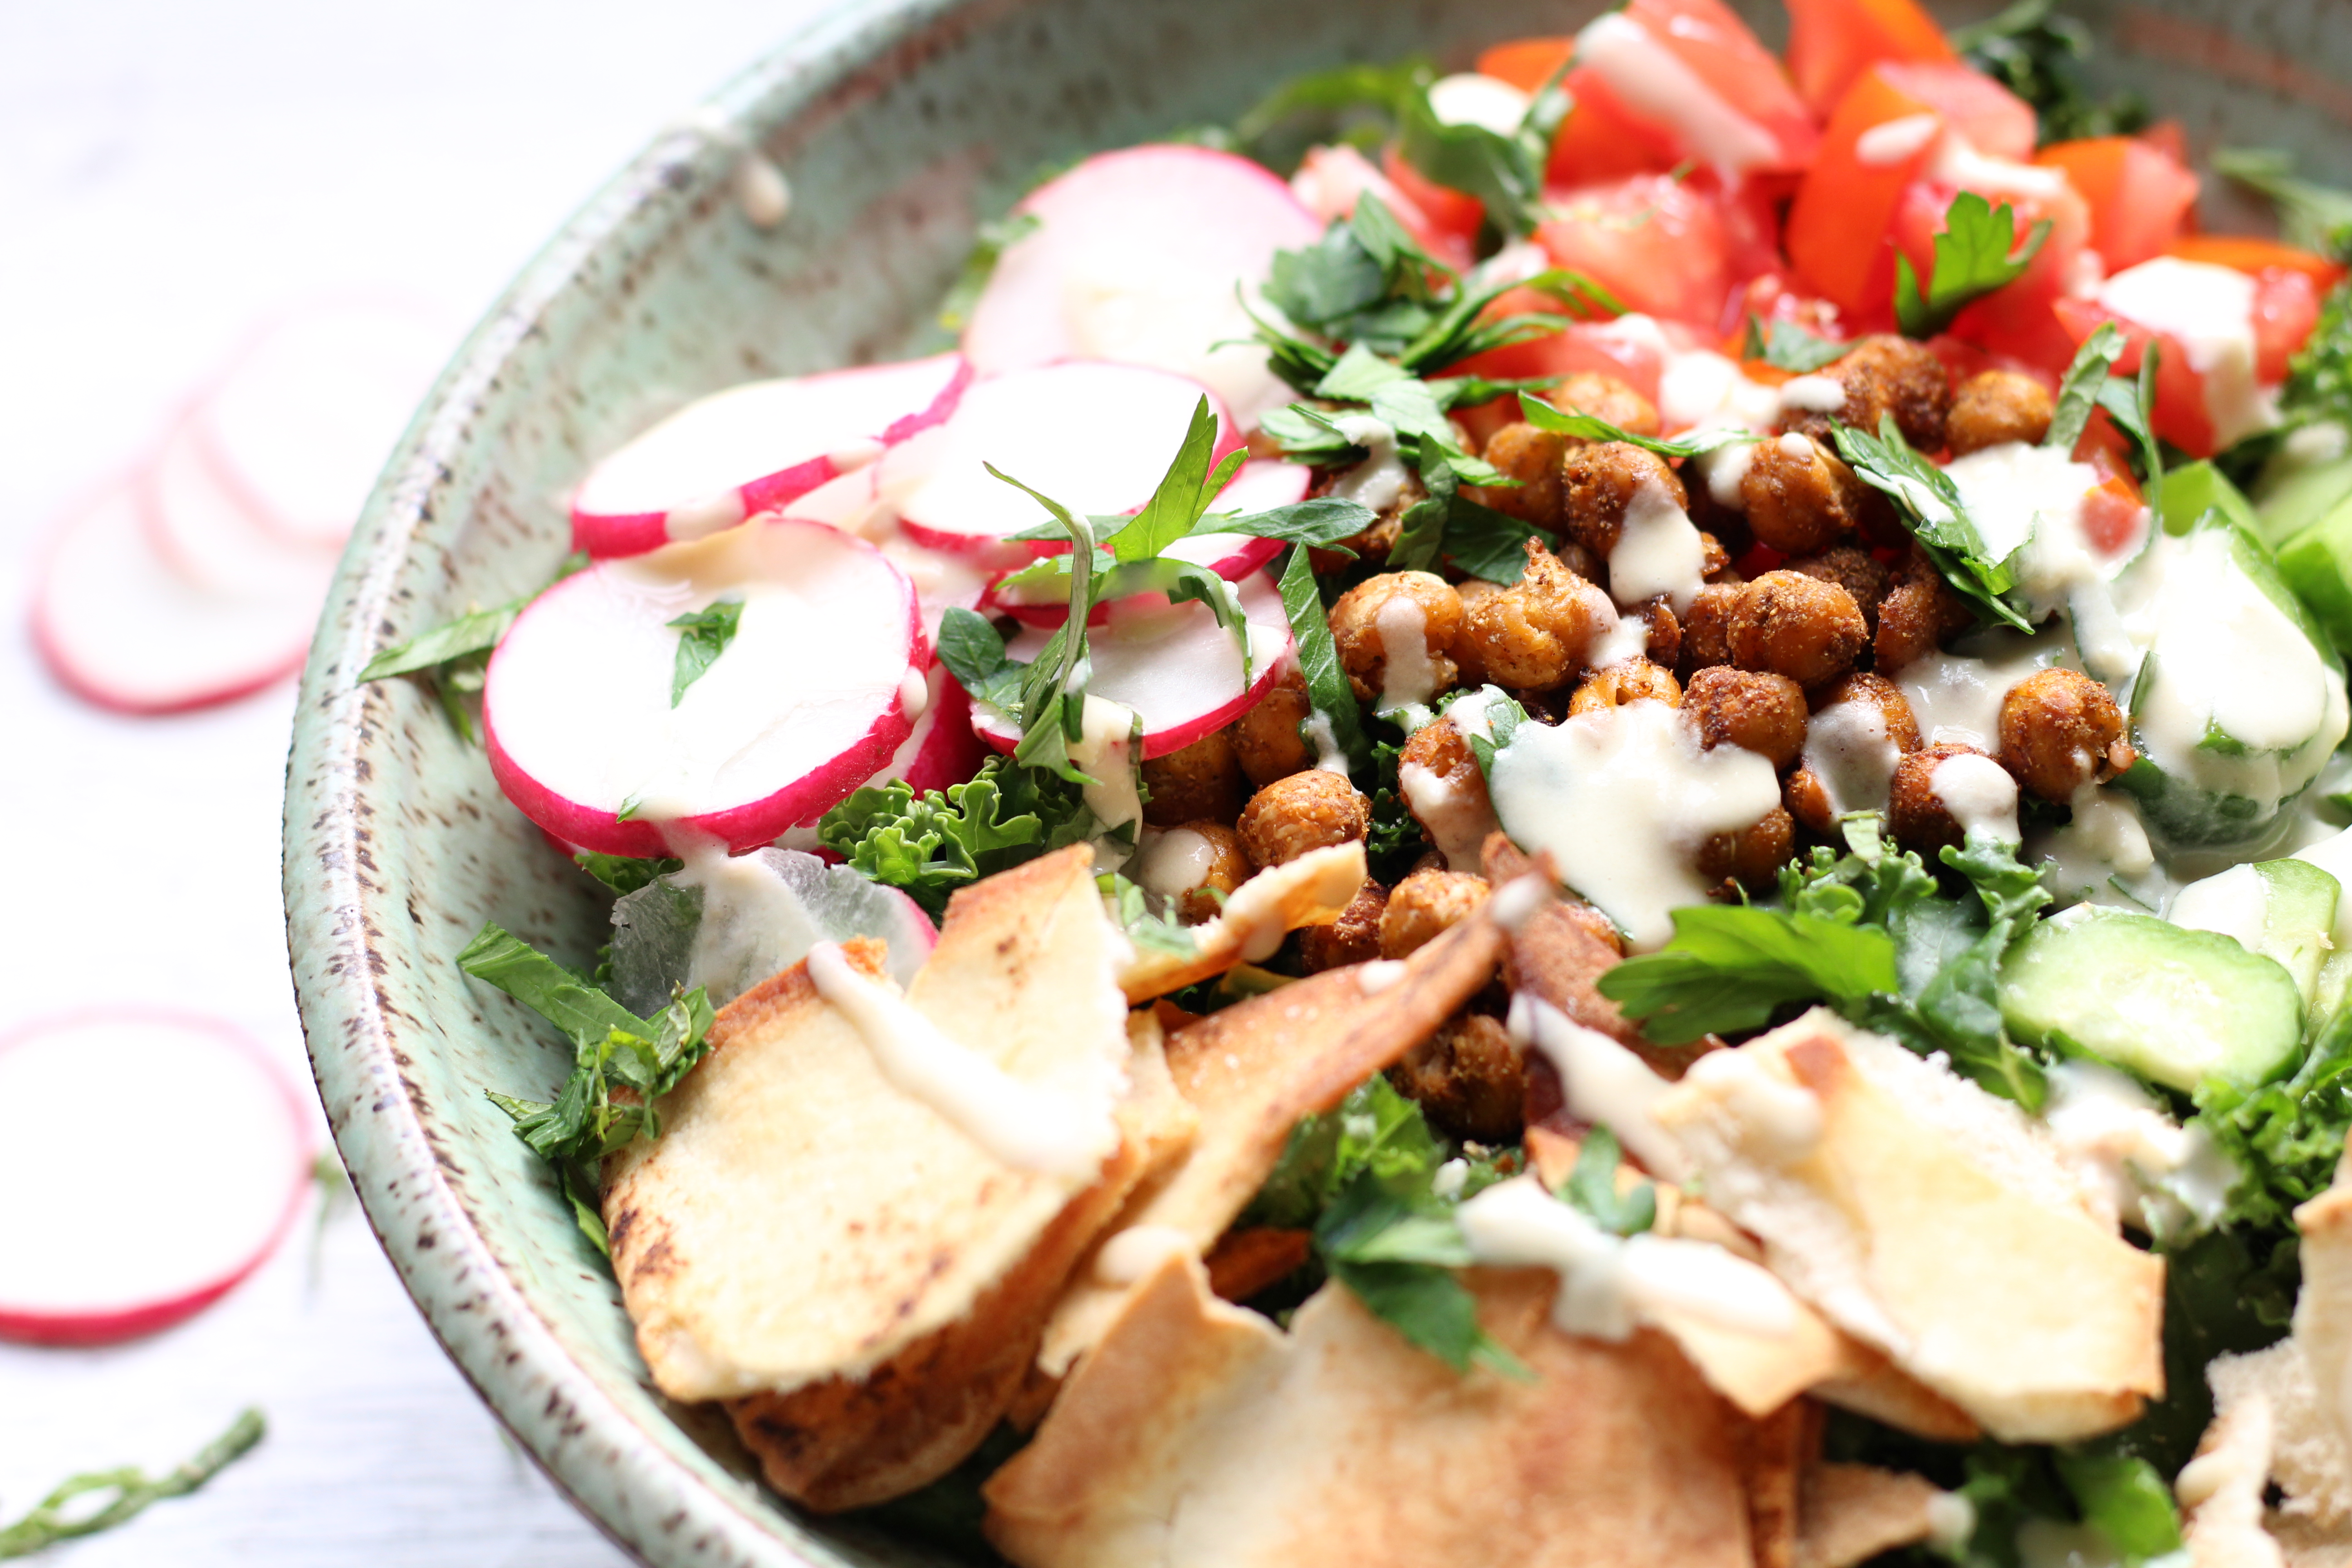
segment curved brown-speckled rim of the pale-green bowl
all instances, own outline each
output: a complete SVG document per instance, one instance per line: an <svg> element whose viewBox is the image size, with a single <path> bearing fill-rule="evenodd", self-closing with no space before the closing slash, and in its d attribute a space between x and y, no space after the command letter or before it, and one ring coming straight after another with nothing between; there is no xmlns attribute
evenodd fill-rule
<svg viewBox="0 0 2352 1568"><path fill-rule="evenodd" d="M1018 0L1016 0L1018 2ZM517 1288L440 1168L405 1072L428 1048L369 983L369 738L386 729L372 689L346 672L412 609L397 590L430 524L435 484L489 411L501 371L607 247L654 202L696 197L797 115L821 108L889 45L1002 0L833 0L757 61L699 99L612 174L496 296L393 447L336 569L301 672L287 755L282 896L287 954L310 1072L360 1211L433 1338L539 1472L633 1559L670 1566L840 1568L779 1530L753 1481L717 1486L616 1403ZM757 129L753 129L757 127ZM353 1114L336 1114L336 1107ZM365 1112L365 1114L362 1114ZM586 1439L586 1441L581 1441ZM729 1495L734 1493L734 1495Z"/></svg>

